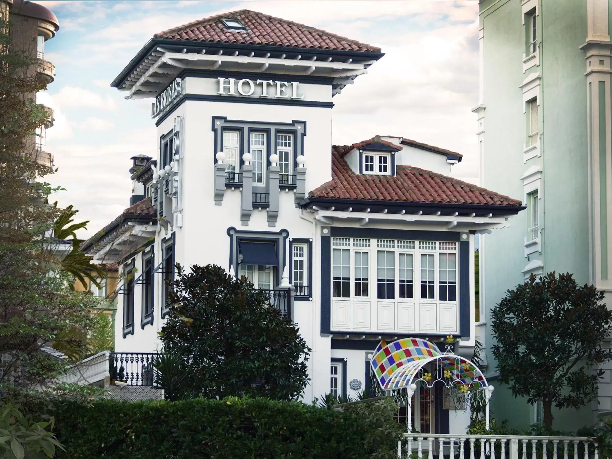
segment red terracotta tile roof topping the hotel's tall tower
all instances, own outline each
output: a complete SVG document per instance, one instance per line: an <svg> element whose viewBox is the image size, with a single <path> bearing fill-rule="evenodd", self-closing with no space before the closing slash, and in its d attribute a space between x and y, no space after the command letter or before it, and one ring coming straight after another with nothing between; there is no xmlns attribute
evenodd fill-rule
<svg viewBox="0 0 612 459"><path fill-rule="evenodd" d="M239 20L246 30L228 29L221 21L222 19ZM154 37L193 42L266 45L315 50L370 51L375 53L381 51L380 48L356 40L251 10L233 11L204 18L160 32L155 34Z"/></svg>

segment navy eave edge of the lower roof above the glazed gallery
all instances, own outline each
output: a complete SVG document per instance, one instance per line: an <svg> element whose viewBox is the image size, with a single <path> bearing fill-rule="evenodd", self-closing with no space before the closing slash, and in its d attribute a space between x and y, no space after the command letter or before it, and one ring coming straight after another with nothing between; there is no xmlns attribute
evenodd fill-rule
<svg viewBox="0 0 612 459"><path fill-rule="evenodd" d="M446 203L413 203L406 201L374 201L374 200L348 200L339 198L312 198L308 197L297 203L302 209L318 204L328 204L334 206L336 211L343 211L351 207L353 212L359 212L365 209L389 209L394 207L398 210L405 208L411 209L411 212L418 211L432 211L432 212L448 212L452 214L454 212L463 212L463 214L476 214L476 217L482 217L483 215L493 214L495 215L510 215L518 214L518 212L526 209L526 206L497 206L489 204L446 204Z"/></svg>

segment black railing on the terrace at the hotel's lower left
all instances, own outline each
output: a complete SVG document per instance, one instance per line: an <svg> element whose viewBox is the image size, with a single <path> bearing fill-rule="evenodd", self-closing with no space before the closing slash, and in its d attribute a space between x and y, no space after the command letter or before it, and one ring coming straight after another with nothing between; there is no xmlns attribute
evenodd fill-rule
<svg viewBox="0 0 612 459"><path fill-rule="evenodd" d="M153 360L157 353L110 353L108 371L111 384L116 381L128 386L157 386Z"/></svg>

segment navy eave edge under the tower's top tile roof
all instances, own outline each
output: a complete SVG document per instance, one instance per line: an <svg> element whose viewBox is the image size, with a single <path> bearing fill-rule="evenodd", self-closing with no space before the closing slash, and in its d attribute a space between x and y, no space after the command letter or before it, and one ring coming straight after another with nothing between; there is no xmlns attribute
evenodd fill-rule
<svg viewBox="0 0 612 459"><path fill-rule="evenodd" d="M202 50L203 48L217 48L224 50L237 50L237 51L261 51L262 53L267 53L272 51L274 53L291 53L291 54L302 54L305 55L316 55L319 56L335 56L339 59L344 56L348 56L353 58L353 62L359 62L359 59L364 61L370 61L374 59L378 61L378 59L384 56L384 53L377 51L346 51L346 50L317 50L314 48L292 48L292 47L275 47L269 45L238 45L233 43L214 43L214 42L193 42L190 40L173 40L173 39L159 39L154 38L149 40L140 51L132 58L132 60L124 67L123 70L116 76L116 78L111 83L111 88L119 88L127 75L133 72L136 68L136 65L140 64L146 56L152 53L154 48L159 45L166 46L175 46L181 48L193 48L195 50Z"/></svg>

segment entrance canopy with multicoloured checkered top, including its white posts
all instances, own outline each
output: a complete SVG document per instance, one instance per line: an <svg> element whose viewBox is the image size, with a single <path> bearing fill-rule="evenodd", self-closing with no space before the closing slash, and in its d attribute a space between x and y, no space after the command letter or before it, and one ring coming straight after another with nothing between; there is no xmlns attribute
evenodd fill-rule
<svg viewBox="0 0 612 459"><path fill-rule="evenodd" d="M465 357L446 346L442 353L438 346L421 338L404 338L388 344L381 341L376 347L370 365L383 392L405 401L406 424L412 430L412 395L420 383L426 387L444 384L456 390L464 401L485 404L485 425L489 430L489 399L493 386L489 386L482 371Z"/></svg>

